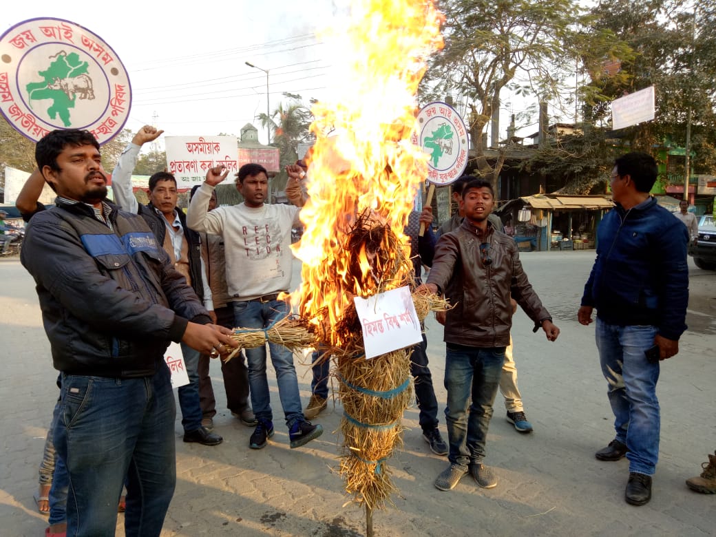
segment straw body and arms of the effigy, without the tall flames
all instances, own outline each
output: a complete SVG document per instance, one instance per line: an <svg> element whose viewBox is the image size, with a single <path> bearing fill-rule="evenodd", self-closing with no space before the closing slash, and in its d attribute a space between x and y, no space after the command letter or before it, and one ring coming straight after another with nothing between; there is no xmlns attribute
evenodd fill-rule
<svg viewBox="0 0 716 537"><path fill-rule="evenodd" d="M358 216L344 235L346 270L340 270L335 262L324 266L336 277L324 282L324 291L329 292L339 282L343 294L372 296L412 284L413 267L405 255L405 242L390 226L368 215L366 211ZM447 307L435 295L413 294L412 299L420 321L429 311ZM294 350L320 347L325 349L324 357L334 357L344 409L339 474L347 492L365 505L370 517L372 510L384 507L396 491L387 460L402 445L400 420L412 401L410 348L366 359L355 307L344 309L332 328L327 312L321 310L321 314L324 319L317 324L291 316L265 331L238 328L233 339L240 348L258 347L268 340ZM236 352L238 349L231 356Z"/></svg>

